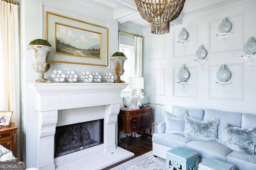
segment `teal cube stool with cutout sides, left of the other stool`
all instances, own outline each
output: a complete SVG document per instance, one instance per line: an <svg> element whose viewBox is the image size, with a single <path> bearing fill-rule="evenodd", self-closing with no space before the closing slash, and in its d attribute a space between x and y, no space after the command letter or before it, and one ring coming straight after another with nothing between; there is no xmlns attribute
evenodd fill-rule
<svg viewBox="0 0 256 170"><path fill-rule="evenodd" d="M177 147L166 154L166 170L198 170L198 152Z"/></svg>

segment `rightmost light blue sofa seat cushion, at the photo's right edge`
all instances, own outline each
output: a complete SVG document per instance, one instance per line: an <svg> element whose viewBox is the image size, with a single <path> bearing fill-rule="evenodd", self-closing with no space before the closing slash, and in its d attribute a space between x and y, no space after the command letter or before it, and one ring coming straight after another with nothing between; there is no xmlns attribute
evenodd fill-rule
<svg viewBox="0 0 256 170"><path fill-rule="evenodd" d="M241 152L233 151L228 154L226 162L233 164L239 170L255 170L256 155L248 155Z"/></svg>

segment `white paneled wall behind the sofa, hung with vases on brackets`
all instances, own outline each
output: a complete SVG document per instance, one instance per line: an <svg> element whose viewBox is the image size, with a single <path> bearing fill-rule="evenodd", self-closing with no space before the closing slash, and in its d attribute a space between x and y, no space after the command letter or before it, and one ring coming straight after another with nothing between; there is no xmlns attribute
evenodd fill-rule
<svg viewBox="0 0 256 170"><path fill-rule="evenodd" d="M244 43L249 37L256 38L255 6L255 0L233 0L193 11L185 14L182 25L171 27L170 33L165 35L153 35L149 28L144 28L143 75L149 83L144 93L150 94L152 106L154 103L162 104L156 107L159 115L164 115L160 114L163 110L172 112L174 107L212 108L256 114L256 68L249 70L248 61L241 58L245 54L242 50ZM216 35L220 33L218 25L225 17L232 24L232 36L227 39L228 45L222 47L223 42ZM187 40L190 43L186 51L177 43L182 28L189 34ZM200 45L204 45L208 52L208 61L203 71L200 70L201 65L195 62L195 54ZM177 83L176 77L181 64L186 64L190 71L185 92ZM222 64L226 64L232 73L229 80L232 84L226 87L226 94L221 92L222 86L216 84L216 72ZM153 75L157 77L153 78ZM159 90L160 88L163 89ZM164 120L164 117L159 116L157 120L159 119Z"/></svg>

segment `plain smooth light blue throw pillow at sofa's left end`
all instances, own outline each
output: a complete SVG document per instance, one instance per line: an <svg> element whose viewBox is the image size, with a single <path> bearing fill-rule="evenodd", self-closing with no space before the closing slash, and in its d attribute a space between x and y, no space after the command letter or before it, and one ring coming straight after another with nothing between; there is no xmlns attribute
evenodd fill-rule
<svg viewBox="0 0 256 170"><path fill-rule="evenodd" d="M166 129L165 133L178 133L182 134L185 127L185 118L184 117L176 117L174 114L165 112L165 123Z"/></svg>

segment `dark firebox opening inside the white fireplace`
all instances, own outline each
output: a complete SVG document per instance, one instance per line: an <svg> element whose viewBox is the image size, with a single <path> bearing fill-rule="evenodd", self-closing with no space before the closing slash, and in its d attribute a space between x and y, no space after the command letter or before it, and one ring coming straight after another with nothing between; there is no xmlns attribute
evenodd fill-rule
<svg viewBox="0 0 256 170"><path fill-rule="evenodd" d="M103 143L104 119L56 127L54 157Z"/></svg>

